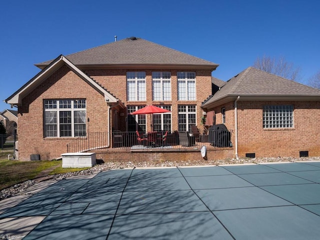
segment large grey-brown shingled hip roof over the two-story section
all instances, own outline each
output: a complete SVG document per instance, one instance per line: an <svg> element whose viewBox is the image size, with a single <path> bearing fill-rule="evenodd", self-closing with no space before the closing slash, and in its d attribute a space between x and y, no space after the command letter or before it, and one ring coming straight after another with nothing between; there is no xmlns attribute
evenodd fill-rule
<svg viewBox="0 0 320 240"><path fill-rule="evenodd" d="M79 51L66 57L78 67L114 65L181 65L214 70L218 64L201 58L144 40L130 37L114 41L87 50ZM43 68L52 60L37 63Z"/></svg>

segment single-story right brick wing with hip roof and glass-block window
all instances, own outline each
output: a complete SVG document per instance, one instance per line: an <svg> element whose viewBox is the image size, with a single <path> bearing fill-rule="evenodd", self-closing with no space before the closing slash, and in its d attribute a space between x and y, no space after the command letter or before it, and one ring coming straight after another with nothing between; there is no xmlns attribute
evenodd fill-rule
<svg viewBox="0 0 320 240"><path fill-rule="evenodd" d="M320 90L248 67L201 107L234 129L234 154L319 156Z"/></svg>

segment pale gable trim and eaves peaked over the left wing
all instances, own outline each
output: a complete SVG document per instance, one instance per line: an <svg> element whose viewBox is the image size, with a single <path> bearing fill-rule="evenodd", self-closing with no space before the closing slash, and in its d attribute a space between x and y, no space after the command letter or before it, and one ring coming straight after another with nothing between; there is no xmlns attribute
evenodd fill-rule
<svg viewBox="0 0 320 240"><path fill-rule="evenodd" d="M24 96L26 96L29 92L34 90L41 82L43 82L47 77L49 77L52 73L54 73L57 69L59 69L64 64L67 65L75 74L81 77L84 81L86 81L90 86L96 89L101 95L103 95L106 102L120 103L120 101L115 96L113 96L110 92L104 89L92 78L87 76L83 71L81 71L78 67L76 67L71 61L69 61L63 55L59 55L57 58L51 61L38 74L32 77L28 82L26 82L23 86L21 86L16 92L14 92L11 96L9 96L4 101L11 105L20 105L21 100Z"/></svg>

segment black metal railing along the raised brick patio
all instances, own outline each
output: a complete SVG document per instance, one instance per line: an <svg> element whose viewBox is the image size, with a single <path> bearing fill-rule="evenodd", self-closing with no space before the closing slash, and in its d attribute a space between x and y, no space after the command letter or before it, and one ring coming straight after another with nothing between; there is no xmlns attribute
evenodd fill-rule
<svg viewBox="0 0 320 240"><path fill-rule="evenodd" d="M196 134L189 132L130 132L113 131L89 132L86 136L75 138L67 144L67 152L83 152L93 149L170 149L231 147L232 130L203 131Z"/></svg>

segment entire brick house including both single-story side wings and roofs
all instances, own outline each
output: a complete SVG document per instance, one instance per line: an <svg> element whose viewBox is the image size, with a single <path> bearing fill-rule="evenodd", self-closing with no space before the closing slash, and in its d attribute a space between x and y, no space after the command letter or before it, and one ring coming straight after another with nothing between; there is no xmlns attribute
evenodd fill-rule
<svg viewBox="0 0 320 240"><path fill-rule="evenodd" d="M151 130L150 118L130 114L150 104L170 110L152 118L155 130L202 130L203 112L214 111L215 123L232 130L232 146L208 148L208 159L320 155L320 90L253 67L223 82L211 76L218 64L136 37L35 65L41 71L5 100L18 107L21 160L58 158L90 133L107 133L100 147L112 149L113 131ZM103 154L97 157L200 155L192 148Z"/></svg>

